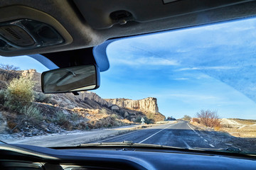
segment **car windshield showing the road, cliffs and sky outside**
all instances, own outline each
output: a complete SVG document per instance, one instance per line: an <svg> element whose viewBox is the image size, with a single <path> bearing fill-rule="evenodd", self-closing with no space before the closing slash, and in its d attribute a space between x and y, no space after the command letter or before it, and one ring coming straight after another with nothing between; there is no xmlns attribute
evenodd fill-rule
<svg viewBox="0 0 256 170"><path fill-rule="evenodd" d="M256 18L106 44L110 69L101 72L100 89L79 96L43 94L46 67L28 56L1 57L0 139L256 154Z"/></svg>

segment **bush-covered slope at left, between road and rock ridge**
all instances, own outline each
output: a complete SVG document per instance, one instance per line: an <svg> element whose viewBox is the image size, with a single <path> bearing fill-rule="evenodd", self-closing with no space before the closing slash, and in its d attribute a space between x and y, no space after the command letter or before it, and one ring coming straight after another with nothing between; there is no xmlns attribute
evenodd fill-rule
<svg viewBox="0 0 256 170"><path fill-rule="evenodd" d="M22 74L18 70L12 65L0 64L0 76L5 83L0 87L1 133L23 132L25 136L33 136L132 123L107 108L71 109L65 108L65 105L59 106L54 95L35 90L37 82L33 74Z"/></svg>

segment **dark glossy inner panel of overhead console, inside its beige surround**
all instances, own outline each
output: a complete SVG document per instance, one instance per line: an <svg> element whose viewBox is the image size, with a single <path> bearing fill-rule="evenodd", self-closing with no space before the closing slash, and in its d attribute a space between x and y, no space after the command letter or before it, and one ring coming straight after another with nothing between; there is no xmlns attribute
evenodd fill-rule
<svg viewBox="0 0 256 170"><path fill-rule="evenodd" d="M46 23L21 19L0 24L0 50L28 50L63 43L60 33Z"/></svg>

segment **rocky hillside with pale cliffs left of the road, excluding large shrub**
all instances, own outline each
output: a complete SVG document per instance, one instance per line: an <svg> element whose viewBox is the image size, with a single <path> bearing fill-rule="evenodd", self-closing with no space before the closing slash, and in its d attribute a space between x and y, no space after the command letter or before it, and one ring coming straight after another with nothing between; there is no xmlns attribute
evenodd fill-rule
<svg viewBox="0 0 256 170"><path fill-rule="evenodd" d="M0 74L3 74L1 70ZM37 115L14 113L0 103L0 132L23 132L25 135L43 135L48 132L62 132L63 130L81 130L113 125L127 125L139 123L144 117L146 123L164 120L159 113L156 98L131 100L124 98L103 99L97 94L85 91L78 96L73 94L43 94L41 93L41 74L35 69L16 72L19 76L32 75L35 101L33 108L38 108ZM8 81L0 76L5 89ZM0 98L1 99L1 98ZM1 100L0 100L1 101ZM28 108L26 108L28 109ZM29 109L28 109L29 110ZM33 118L29 118L33 116Z"/></svg>

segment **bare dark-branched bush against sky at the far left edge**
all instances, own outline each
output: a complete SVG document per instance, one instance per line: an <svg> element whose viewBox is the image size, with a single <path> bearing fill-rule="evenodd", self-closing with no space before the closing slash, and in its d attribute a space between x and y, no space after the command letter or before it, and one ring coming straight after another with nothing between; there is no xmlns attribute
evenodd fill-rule
<svg viewBox="0 0 256 170"><path fill-rule="evenodd" d="M3 69L3 70L0 70L0 74L4 76L6 81L10 81L11 79L14 79L20 76L20 74L16 72L19 70L19 67L16 67L14 65L0 64L0 69Z"/></svg>

